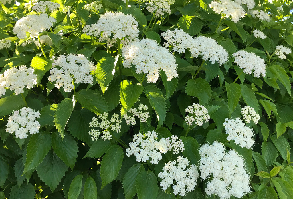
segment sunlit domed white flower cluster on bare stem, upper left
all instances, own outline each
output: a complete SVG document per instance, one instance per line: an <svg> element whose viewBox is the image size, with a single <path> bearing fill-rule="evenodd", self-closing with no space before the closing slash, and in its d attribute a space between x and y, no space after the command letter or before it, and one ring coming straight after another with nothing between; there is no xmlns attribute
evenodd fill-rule
<svg viewBox="0 0 293 199"><path fill-rule="evenodd" d="M13 27L14 34L19 39L27 38L27 32L31 38L38 37L40 32L50 29L56 20L47 14L28 15L20 18Z"/></svg>

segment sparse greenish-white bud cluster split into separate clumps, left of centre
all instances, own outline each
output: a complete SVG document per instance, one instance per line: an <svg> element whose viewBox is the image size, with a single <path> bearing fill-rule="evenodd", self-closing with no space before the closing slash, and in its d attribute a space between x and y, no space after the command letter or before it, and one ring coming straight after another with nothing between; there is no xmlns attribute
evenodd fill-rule
<svg viewBox="0 0 293 199"><path fill-rule="evenodd" d="M101 133L103 135L101 136L101 139L105 140L111 140L112 135L109 130L116 131L117 133L121 132L121 119L119 119L119 114L114 113L111 117L110 121L107 119L108 113L104 112L99 115L99 119L101 119L101 122L98 122L98 118L93 117L92 121L89 123L89 127L97 127L100 129L105 129L104 131L100 131L99 129L91 129L91 131L88 131L88 134L91 135L91 139L98 140L98 137Z"/></svg>

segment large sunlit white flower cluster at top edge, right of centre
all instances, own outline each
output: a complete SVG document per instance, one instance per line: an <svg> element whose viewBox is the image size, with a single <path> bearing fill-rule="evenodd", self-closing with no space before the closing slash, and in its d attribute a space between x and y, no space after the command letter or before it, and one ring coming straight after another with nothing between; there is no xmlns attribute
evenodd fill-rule
<svg viewBox="0 0 293 199"><path fill-rule="evenodd" d="M240 4L234 1L214 0L209 4L209 7L213 8L213 10L216 13L221 14L222 16L226 18L231 16L231 20L234 23L237 23L240 20L240 18L243 18L245 16L244 8Z"/></svg>

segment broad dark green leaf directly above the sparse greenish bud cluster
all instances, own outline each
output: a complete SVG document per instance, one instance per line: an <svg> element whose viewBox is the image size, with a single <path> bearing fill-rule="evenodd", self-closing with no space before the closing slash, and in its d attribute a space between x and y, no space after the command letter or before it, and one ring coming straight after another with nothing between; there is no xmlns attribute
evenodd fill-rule
<svg viewBox="0 0 293 199"><path fill-rule="evenodd" d="M76 93L76 99L81 106L97 115L103 112L108 112L109 110L106 100L100 95L98 90L80 90Z"/></svg>

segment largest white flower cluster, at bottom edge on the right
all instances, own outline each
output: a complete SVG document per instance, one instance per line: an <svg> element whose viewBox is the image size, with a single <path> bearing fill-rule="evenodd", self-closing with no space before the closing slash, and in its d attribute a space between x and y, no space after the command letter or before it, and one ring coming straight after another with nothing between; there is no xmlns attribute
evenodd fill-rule
<svg viewBox="0 0 293 199"><path fill-rule="evenodd" d="M249 174L245 163L235 150L225 153L222 143L203 144L200 147L200 177L212 179L207 182L207 195L228 199L231 195L241 198L250 192Z"/></svg>

